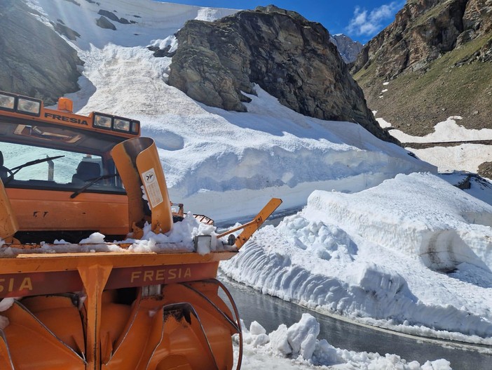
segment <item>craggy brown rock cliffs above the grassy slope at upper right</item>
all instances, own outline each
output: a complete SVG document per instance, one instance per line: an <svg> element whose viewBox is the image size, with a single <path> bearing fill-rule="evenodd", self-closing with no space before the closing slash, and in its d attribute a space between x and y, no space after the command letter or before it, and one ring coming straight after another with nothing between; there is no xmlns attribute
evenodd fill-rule
<svg viewBox="0 0 492 370"><path fill-rule="evenodd" d="M352 72L376 63L376 76L392 79L491 30L491 0L407 1L395 22L364 46Z"/></svg>

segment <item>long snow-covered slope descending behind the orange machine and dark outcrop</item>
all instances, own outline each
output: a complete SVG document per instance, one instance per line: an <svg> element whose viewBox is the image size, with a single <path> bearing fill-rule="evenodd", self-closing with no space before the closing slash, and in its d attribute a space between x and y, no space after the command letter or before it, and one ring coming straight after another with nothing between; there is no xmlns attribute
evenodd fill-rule
<svg viewBox="0 0 492 370"><path fill-rule="evenodd" d="M248 112L238 113L205 107L165 84L171 60L146 46L174 45L172 34L187 19L233 11L149 0L30 1L47 24L62 20L81 34L73 44L85 62L82 88L69 95L76 109L140 119L160 148L172 200L196 213L227 220L256 213L270 197L288 209L306 204L315 189L353 192L396 173L435 171L357 124L296 114L259 87ZM100 8L137 23L102 29Z"/></svg>

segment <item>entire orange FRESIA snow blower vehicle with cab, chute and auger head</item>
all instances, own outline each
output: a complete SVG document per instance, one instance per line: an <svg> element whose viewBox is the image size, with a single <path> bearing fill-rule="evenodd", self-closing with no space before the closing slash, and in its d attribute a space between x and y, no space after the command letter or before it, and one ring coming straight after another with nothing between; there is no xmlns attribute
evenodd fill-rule
<svg viewBox="0 0 492 370"><path fill-rule="evenodd" d="M0 92L0 145L0 369L233 368L240 321L215 279L219 261L280 199L237 238L156 237L139 250L149 230L162 236L189 217L172 212L139 121Z"/></svg>

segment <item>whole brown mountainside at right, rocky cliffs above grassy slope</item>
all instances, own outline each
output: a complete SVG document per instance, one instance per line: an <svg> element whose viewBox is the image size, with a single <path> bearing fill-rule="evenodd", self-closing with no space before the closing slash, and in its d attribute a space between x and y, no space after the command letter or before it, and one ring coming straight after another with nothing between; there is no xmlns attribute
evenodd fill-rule
<svg viewBox="0 0 492 370"><path fill-rule="evenodd" d="M371 110L406 133L453 115L492 128L492 0L407 1L352 72Z"/></svg>

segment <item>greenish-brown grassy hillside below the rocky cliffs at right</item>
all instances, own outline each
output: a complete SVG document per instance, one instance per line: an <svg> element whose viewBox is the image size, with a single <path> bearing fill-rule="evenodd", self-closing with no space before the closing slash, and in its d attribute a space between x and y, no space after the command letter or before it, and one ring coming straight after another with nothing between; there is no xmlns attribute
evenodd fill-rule
<svg viewBox="0 0 492 370"><path fill-rule="evenodd" d="M491 44L491 34L475 39L433 60L425 71L406 70L386 86L374 62L354 78L376 117L411 135L431 133L450 116L463 117L466 128L492 128L492 62L477 60Z"/></svg>

